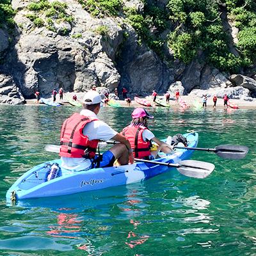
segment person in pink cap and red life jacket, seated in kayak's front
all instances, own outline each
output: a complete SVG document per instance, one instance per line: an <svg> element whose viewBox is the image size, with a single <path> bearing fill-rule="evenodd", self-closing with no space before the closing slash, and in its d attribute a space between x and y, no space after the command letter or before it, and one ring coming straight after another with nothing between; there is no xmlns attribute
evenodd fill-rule
<svg viewBox="0 0 256 256"><path fill-rule="evenodd" d="M166 154L172 152L172 146L160 141L154 136L154 133L148 129L147 119L154 118L148 115L143 108L136 108L132 112L132 122L125 127L122 134L130 141L134 157L144 159L154 159L161 150ZM154 141L158 148L150 151L150 147Z"/></svg>

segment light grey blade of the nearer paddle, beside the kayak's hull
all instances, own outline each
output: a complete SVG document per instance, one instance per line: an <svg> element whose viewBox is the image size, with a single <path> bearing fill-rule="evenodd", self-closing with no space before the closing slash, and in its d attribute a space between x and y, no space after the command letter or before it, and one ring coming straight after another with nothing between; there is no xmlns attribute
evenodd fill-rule
<svg viewBox="0 0 256 256"><path fill-rule="evenodd" d="M177 170L181 174L198 179L206 178L215 168L214 164L195 160L184 160L178 164Z"/></svg>

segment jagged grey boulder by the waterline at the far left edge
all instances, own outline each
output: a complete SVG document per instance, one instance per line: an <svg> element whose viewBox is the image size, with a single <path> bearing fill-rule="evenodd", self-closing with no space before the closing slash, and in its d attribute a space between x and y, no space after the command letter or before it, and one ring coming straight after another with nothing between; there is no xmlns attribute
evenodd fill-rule
<svg viewBox="0 0 256 256"><path fill-rule="evenodd" d="M24 104L24 97L12 77L0 74L0 103L2 104Z"/></svg>

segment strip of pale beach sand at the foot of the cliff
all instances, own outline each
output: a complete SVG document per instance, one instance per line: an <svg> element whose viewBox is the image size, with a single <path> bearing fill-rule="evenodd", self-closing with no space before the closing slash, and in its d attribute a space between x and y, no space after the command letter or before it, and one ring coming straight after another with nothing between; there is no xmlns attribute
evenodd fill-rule
<svg viewBox="0 0 256 256"><path fill-rule="evenodd" d="M76 94L77 95L77 100L82 101L83 100L83 95L84 92L79 92L79 93L74 93L74 92L70 92L70 93L64 93L64 97L63 97L63 106L71 106L67 99L72 99L73 95ZM197 100L198 102L202 103L202 98L199 97L192 97L190 95L181 95L180 96L181 99L184 99L190 106L190 108L194 108L193 106L193 102L195 100ZM60 102L60 97L57 95L56 97L56 102ZM122 107L129 107L127 106L127 103L125 102L125 100L116 100ZM237 99L231 99L230 100L233 104L237 104L237 106L239 106L240 109L256 109L256 101L246 101L246 100L237 100ZM36 99L30 99L30 100L26 100L26 105L37 105L36 103ZM207 100L207 108L212 108L213 106L213 102L212 102L212 98L209 98ZM108 106L109 108L111 108L110 106ZM138 108L138 107L142 107L140 104L138 104L137 102L135 102L134 100L132 100L131 102L131 108ZM171 108L180 108L180 105L175 103L175 100L170 100L170 107ZM147 108L147 107L144 107ZM151 108L151 107L150 107ZM161 108L161 107L157 107L157 108ZM216 108L223 108L223 99L218 99L217 100L217 104L216 104Z"/></svg>

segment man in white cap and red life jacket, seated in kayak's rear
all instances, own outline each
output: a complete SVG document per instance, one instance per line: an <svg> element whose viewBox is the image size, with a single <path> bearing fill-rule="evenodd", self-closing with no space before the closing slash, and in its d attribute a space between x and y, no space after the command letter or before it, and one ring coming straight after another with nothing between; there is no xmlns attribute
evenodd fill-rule
<svg viewBox="0 0 256 256"><path fill-rule="evenodd" d="M131 144L120 133L97 118L100 111L100 95L89 91L84 95L83 110L74 113L62 125L60 136L61 166L69 170L113 166L133 163ZM102 156L95 156L99 140L119 141Z"/></svg>

